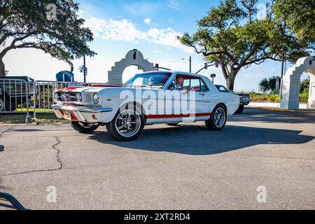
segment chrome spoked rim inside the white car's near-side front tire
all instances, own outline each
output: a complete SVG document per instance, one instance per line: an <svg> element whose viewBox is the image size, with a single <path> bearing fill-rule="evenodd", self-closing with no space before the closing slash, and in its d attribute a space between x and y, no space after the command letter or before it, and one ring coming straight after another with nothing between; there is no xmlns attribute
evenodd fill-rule
<svg viewBox="0 0 315 224"><path fill-rule="evenodd" d="M123 137L133 137L141 128L141 118L135 111L120 112L115 121L117 132Z"/></svg>

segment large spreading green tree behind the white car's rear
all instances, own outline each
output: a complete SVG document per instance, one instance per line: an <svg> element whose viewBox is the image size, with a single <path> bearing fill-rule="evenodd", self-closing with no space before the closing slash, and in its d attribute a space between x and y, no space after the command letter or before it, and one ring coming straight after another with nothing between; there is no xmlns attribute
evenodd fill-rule
<svg viewBox="0 0 315 224"><path fill-rule="evenodd" d="M240 69L266 59L281 60L285 57L294 62L309 55L309 43L314 43L312 39L297 38L295 29L289 29L281 16L276 16L280 15L279 10L274 10L273 5L267 4L266 18L258 18L257 3L258 0L220 1L217 7L210 8L207 15L198 20L199 29L195 34L186 33L179 37L183 45L195 48L208 61L221 65L230 90L234 88ZM314 10L314 5L306 4L304 7L303 11ZM301 20L308 22L309 19Z"/></svg>

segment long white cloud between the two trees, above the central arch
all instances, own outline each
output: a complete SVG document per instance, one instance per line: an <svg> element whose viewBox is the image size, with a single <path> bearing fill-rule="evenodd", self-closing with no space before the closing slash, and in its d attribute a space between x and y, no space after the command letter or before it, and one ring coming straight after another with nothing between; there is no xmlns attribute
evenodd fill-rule
<svg viewBox="0 0 315 224"><path fill-rule="evenodd" d="M177 36L182 34L172 28L151 28L141 31L134 23L128 20L102 20L98 18L87 18L85 25L90 27L95 38L133 43L152 43L165 45L169 48L179 48L190 54L193 53L192 48L182 45L177 39Z"/></svg>

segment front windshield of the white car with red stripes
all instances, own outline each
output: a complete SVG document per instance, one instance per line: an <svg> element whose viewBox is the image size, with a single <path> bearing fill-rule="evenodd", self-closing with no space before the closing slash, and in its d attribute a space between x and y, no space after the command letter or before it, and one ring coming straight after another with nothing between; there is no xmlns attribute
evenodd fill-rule
<svg viewBox="0 0 315 224"><path fill-rule="evenodd" d="M131 78L125 86L130 87L153 87L162 89L165 83L172 76L170 72L142 73Z"/></svg>

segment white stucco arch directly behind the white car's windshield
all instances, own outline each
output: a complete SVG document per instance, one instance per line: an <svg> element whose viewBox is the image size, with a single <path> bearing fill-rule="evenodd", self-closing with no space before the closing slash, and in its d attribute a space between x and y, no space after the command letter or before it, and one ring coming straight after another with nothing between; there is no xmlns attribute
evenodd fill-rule
<svg viewBox="0 0 315 224"><path fill-rule="evenodd" d="M125 58L120 60L120 62L116 62L115 66L111 67L111 71L109 71L109 84L123 84L123 72L128 66L139 66L144 71L153 71L156 70L153 63L148 62L147 59L144 59L144 55L137 50L130 50L127 52Z"/></svg>

